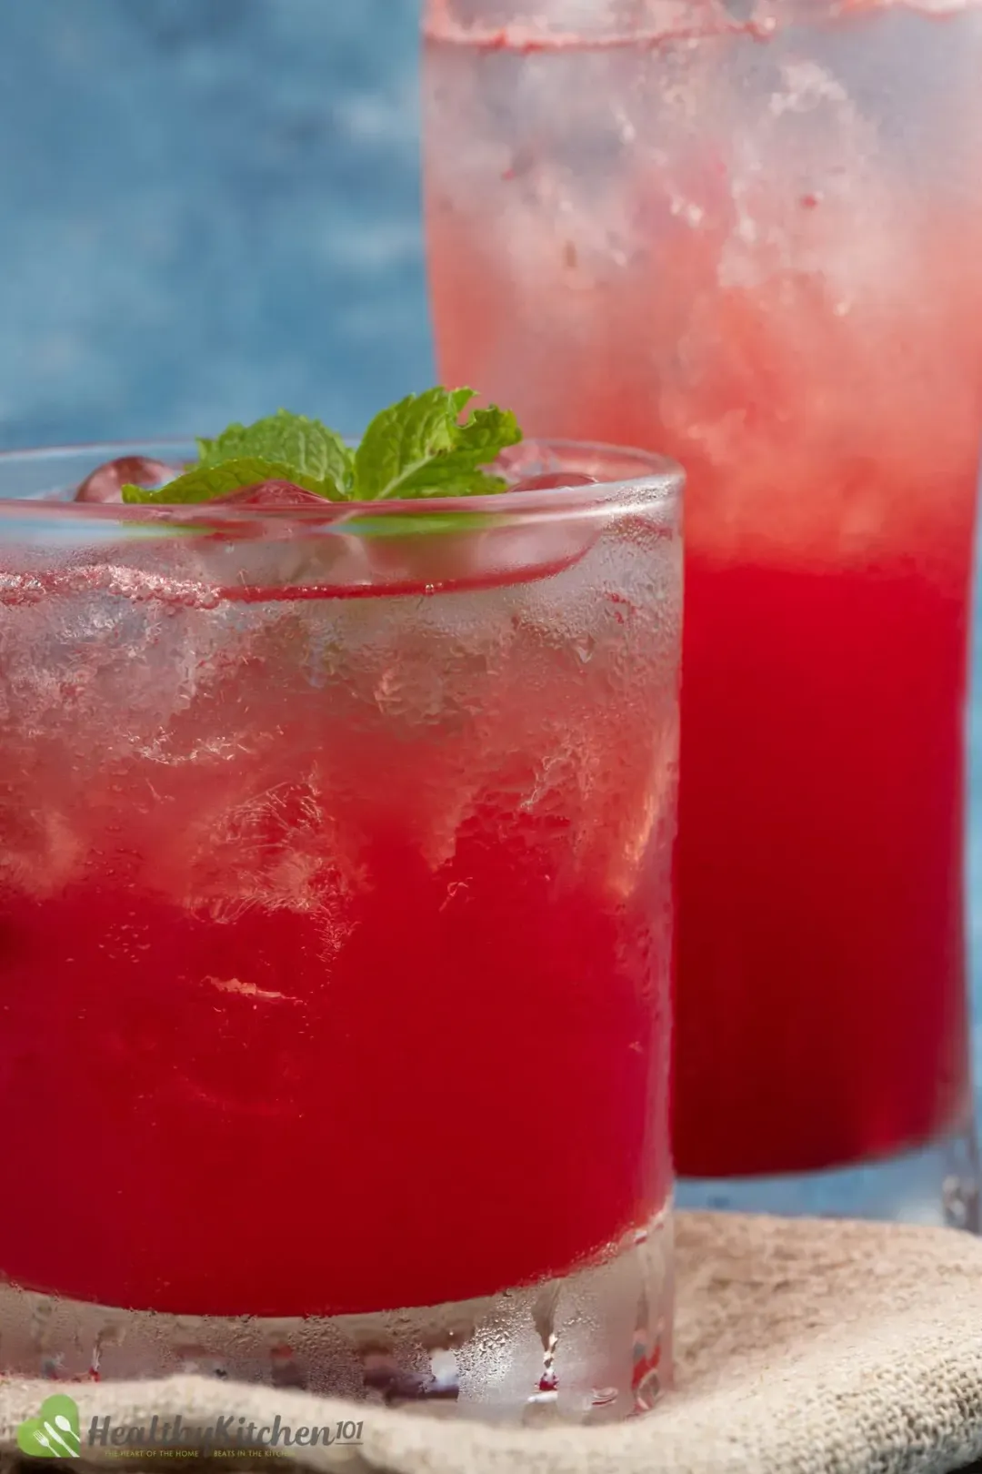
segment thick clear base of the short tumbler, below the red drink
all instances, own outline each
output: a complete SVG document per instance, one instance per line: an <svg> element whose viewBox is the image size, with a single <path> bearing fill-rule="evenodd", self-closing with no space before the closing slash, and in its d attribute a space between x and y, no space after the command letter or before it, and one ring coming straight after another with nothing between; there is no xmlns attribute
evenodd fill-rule
<svg viewBox="0 0 982 1474"><path fill-rule="evenodd" d="M374 1315L224 1319L118 1310L0 1284L0 1375L197 1372L480 1418L604 1422L671 1366L671 1212L601 1263L483 1300Z"/></svg>

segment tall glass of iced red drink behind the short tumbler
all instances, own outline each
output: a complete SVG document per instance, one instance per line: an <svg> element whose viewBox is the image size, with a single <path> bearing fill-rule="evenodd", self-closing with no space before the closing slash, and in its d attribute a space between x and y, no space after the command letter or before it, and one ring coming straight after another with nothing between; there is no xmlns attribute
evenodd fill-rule
<svg viewBox="0 0 982 1474"><path fill-rule="evenodd" d="M979 77L958 0L428 4L443 377L689 479L674 1148L714 1201L976 1220Z"/></svg>

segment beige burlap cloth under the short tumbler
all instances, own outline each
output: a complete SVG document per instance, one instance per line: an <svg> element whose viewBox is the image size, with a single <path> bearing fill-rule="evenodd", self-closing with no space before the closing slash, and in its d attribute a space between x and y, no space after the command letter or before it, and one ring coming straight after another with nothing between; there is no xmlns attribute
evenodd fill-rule
<svg viewBox="0 0 982 1474"><path fill-rule="evenodd" d="M197 1377L71 1390L84 1425L361 1418L361 1447L290 1453L346 1474L942 1474L982 1456L982 1241L717 1213L679 1215L677 1238L676 1390L626 1424L490 1428ZM52 1390L0 1384L3 1474L40 1467L10 1450Z"/></svg>

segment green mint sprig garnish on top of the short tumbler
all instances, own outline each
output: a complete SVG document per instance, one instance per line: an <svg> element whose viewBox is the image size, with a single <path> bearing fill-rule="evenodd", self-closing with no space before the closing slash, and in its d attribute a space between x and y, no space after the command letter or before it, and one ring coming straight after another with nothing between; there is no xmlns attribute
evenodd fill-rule
<svg viewBox="0 0 982 1474"><path fill-rule="evenodd" d="M199 461L166 486L124 486L127 503L213 501L262 481L289 481L328 501L474 497L505 491L483 467L517 445L515 416L490 405L461 414L473 389L427 389L383 410L352 451L319 420L280 410L255 425L230 425L199 439Z"/></svg>

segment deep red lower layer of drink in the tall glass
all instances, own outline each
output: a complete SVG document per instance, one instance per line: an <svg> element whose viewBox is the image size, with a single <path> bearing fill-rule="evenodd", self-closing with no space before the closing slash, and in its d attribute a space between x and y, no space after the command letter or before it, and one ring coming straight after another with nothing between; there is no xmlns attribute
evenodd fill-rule
<svg viewBox="0 0 982 1474"><path fill-rule="evenodd" d="M676 1159L770 1173L930 1141L970 1106L964 591L696 559L688 590Z"/></svg>

